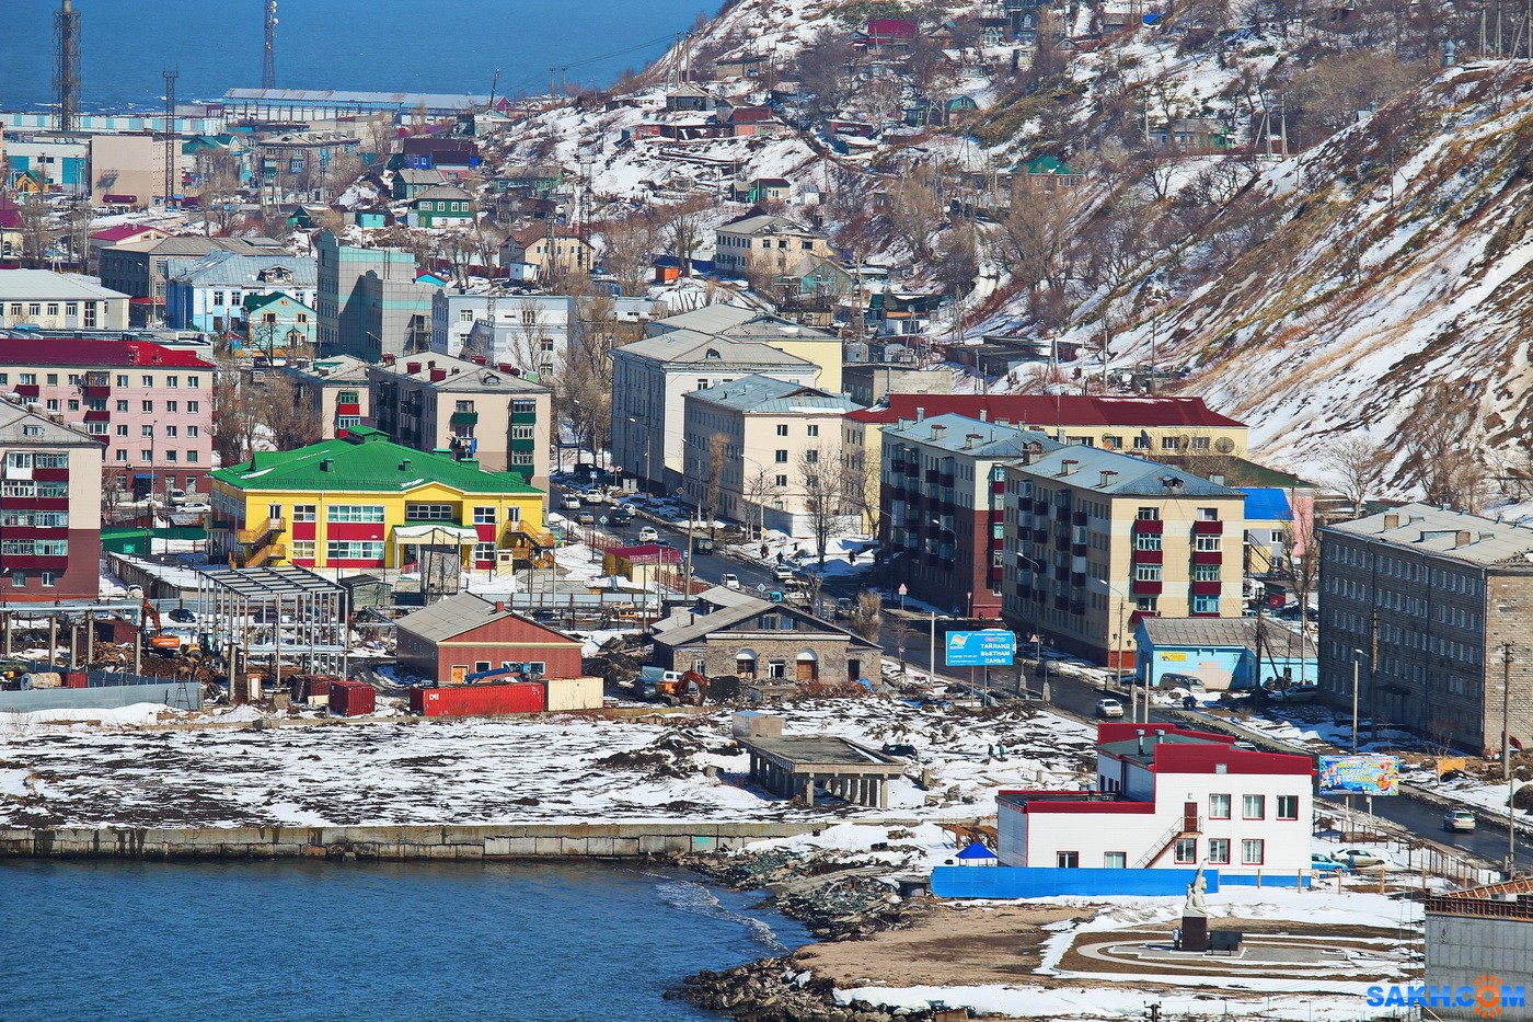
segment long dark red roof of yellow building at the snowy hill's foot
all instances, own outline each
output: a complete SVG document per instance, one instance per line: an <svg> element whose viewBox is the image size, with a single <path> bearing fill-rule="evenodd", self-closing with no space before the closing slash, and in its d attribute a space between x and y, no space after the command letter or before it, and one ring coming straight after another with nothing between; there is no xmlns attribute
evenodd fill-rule
<svg viewBox="0 0 1533 1022"><path fill-rule="evenodd" d="M1095 397L1088 394L889 394L858 411L858 422L889 424L957 413L1036 427L1225 427L1243 422L1211 411L1202 397Z"/></svg>

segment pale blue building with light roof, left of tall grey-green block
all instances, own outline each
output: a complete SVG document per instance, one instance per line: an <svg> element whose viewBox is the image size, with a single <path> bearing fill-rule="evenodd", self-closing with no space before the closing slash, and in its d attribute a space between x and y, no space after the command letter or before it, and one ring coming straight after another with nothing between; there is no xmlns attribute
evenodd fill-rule
<svg viewBox="0 0 1533 1022"><path fill-rule="evenodd" d="M175 330L224 333L245 322L245 299L287 295L314 308L319 273L313 256L285 252L238 255L210 252L201 259L172 259L166 267L166 324Z"/></svg>

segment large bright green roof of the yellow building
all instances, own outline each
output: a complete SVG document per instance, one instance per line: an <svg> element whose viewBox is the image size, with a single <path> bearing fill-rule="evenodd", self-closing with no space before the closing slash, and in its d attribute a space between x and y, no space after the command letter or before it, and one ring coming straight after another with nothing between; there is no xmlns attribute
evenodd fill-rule
<svg viewBox="0 0 1533 1022"><path fill-rule="evenodd" d="M259 451L247 463L219 468L213 479L236 490L405 493L442 483L463 493L543 494L515 473L491 473L475 462L417 451L371 427L351 427L345 437L296 451Z"/></svg>

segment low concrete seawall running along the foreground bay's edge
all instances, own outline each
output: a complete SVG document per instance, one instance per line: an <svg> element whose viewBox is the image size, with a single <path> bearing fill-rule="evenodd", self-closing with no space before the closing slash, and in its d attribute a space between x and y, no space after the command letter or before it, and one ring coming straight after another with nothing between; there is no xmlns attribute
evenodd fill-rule
<svg viewBox="0 0 1533 1022"><path fill-rule="evenodd" d="M103 859L523 859L642 858L725 852L837 823L912 826L914 819L822 823L483 824L396 827L0 829L0 858Z"/></svg>

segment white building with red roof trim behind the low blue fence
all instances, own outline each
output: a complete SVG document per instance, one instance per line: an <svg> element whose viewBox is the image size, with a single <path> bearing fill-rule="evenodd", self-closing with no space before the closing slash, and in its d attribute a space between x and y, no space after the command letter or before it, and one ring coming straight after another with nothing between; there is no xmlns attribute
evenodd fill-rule
<svg viewBox="0 0 1533 1022"><path fill-rule="evenodd" d="M1001 865L1309 873L1314 764L1170 724L1104 723L1096 786L996 796Z"/></svg>

